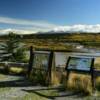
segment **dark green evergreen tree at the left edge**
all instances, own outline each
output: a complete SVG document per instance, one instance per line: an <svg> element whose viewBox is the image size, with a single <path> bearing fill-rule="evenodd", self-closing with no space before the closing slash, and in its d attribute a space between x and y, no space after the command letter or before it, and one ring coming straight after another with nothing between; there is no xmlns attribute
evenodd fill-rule
<svg viewBox="0 0 100 100"><path fill-rule="evenodd" d="M0 44L0 50L3 54L10 54L2 58L2 61L24 61L25 48L22 45L21 39L13 32L8 34L8 39Z"/></svg>

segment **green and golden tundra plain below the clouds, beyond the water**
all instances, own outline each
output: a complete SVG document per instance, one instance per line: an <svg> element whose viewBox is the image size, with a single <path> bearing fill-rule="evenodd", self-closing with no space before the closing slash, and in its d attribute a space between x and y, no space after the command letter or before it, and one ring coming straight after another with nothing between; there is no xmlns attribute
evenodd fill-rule
<svg viewBox="0 0 100 100"><path fill-rule="evenodd" d="M1 41L5 41L9 36L0 36ZM29 34L17 35L26 47L66 49L72 51L75 47L72 43L81 44L87 47L100 48L100 33L54 33L54 34ZM69 43L69 44L67 44Z"/></svg>

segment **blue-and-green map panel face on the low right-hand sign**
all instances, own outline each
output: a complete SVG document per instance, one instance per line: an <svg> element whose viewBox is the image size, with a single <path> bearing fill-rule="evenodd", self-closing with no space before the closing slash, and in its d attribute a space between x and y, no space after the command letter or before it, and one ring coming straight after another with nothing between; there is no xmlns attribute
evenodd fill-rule
<svg viewBox="0 0 100 100"><path fill-rule="evenodd" d="M90 71L93 58L70 57L67 69Z"/></svg>

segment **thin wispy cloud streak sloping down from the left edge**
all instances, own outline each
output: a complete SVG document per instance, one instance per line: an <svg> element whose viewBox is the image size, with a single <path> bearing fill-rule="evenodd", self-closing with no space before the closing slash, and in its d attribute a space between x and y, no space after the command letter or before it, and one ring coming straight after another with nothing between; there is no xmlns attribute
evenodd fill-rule
<svg viewBox="0 0 100 100"><path fill-rule="evenodd" d="M9 17L0 17L0 23L33 26L33 27L48 28L48 29L56 27L55 24L51 24L45 21L23 20L23 19L9 18Z"/></svg>

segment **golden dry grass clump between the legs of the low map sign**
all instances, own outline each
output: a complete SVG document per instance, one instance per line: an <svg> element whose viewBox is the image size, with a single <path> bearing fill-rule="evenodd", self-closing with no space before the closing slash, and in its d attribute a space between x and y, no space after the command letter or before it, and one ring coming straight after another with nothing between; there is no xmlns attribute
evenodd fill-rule
<svg viewBox="0 0 100 100"><path fill-rule="evenodd" d="M72 73L68 81L68 89L73 91L80 91L85 94L91 94L92 85L90 79L91 78L89 75L77 75Z"/></svg>

